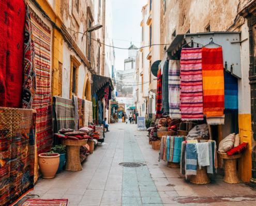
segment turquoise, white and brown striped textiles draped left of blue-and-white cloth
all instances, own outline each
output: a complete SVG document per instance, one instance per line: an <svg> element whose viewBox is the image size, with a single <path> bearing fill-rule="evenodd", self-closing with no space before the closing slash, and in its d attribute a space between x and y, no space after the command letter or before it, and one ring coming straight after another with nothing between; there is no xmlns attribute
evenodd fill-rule
<svg viewBox="0 0 256 206"><path fill-rule="evenodd" d="M180 162L180 154L184 136L162 136L160 159L167 162Z"/></svg>

